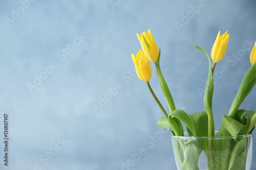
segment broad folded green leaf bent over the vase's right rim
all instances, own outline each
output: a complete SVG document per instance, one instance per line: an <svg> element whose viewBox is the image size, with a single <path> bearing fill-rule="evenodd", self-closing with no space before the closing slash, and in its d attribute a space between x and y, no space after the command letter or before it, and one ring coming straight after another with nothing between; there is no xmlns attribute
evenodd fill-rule
<svg viewBox="0 0 256 170"><path fill-rule="evenodd" d="M223 115L222 117L222 126L231 136L243 135L245 133L245 126L227 115Z"/></svg>

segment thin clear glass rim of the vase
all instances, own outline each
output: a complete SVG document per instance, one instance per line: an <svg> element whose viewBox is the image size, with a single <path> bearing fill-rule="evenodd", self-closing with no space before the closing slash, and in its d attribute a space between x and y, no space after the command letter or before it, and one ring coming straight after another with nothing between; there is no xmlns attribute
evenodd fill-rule
<svg viewBox="0 0 256 170"><path fill-rule="evenodd" d="M217 133L218 131L215 131L215 134ZM233 137L236 137L236 138L244 138L244 137L252 137L253 134L248 134L248 135L237 135L237 136L212 136L212 137L208 137L208 136L188 136L188 133L187 132L184 132L184 136L174 136L174 135L171 135L172 138L179 138L179 139L191 139L191 140L197 140L197 139L217 139L217 138L225 138L225 139L228 139L228 138L233 138Z"/></svg>

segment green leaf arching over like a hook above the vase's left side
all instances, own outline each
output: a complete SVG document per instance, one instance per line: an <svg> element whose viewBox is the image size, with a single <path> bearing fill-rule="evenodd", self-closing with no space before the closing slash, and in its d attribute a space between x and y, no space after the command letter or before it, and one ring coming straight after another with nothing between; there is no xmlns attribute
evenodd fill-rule
<svg viewBox="0 0 256 170"><path fill-rule="evenodd" d="M193 133L193 135L195 134L195 128L194 128L193 122L185 111L181 109L176 109L169 113L168 118L169 117L178 118L181 122L183 122L189 128L189 130Z"/></svg>

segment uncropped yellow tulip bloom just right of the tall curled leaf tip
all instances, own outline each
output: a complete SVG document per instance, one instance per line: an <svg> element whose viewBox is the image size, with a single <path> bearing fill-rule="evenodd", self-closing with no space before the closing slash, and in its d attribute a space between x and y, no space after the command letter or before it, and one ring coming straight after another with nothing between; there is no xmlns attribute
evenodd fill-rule
<svg viewBox="0 0 256 170"><path fill-rule="evenodd" d="M216 63L224 57L227 50L227 43L229 40L229 34L227 34L227 32L225 34L222 34L222 36L220 35L221 31L219 31L214 45L211 49L211 59Z"/></svg>

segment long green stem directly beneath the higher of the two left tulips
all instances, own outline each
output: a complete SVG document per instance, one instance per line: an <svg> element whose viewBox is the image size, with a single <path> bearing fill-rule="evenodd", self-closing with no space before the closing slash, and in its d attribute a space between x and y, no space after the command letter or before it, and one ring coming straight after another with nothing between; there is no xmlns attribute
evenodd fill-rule
<svg viewBox="0 0 256 170"><path fill-rule="evenodd" d="M170 93L170 90L169 90L169 88L168 88L168 86L167 86L167 84L166 84L166 82L165 82L165 80L162 76L162 72L160 70L159 64L157 62L155 62L154 64L155 64L155 67L156 67L156 72L157 72L157 76L158 76L160 86L162 88L162 91L164 93L165 99L166 99L167 104L168 104L169 112L172 112L173 110L176 110L174 100L173 100L173 96ZM164 84L165 84L167 89L164 88Z"/></svg>

